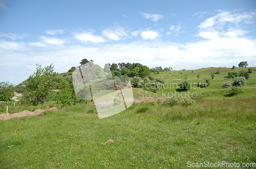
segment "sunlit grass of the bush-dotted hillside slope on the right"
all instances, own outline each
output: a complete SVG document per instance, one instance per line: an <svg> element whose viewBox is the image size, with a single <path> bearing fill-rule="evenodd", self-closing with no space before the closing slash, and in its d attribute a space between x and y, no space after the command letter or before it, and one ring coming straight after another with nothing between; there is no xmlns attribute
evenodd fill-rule
<svg viewBox="0 0 256 169"><path fill-rule="evenodd" d="M228 95L229 89L222 89L222 83L224 83L225 81L233 82L233 79L226 78L226 76L228 75L227 72L239 72L241 70L247 71L248 68L236 68L234 70L232 70L231 68L203 68L197 70L160 72L159 74L151 73L154 78L163 77L165 80L165 85L163 89L161 89L156 94L151 94L151 96L154 97L155 95L155 97L171 97L173 95L179 94L187 96L194 93L194 95L202 95L203 97L207 98L230 98ZM256 97L256 68L253 67L252 70L253 72L250 73L250 78L247 79L246 86L241 87L244 92L232 96L231 98ZM216 73L217 71L219 71L219 74L215 74L214 79L212 79L211 74ZM198 74L199 79L197 77ZM210 86L207 88L197 87L197 83L204 82L205 79L210 79ZM185 80L189 82L190 89L186 92L179 91L179 83Z"/></svg>

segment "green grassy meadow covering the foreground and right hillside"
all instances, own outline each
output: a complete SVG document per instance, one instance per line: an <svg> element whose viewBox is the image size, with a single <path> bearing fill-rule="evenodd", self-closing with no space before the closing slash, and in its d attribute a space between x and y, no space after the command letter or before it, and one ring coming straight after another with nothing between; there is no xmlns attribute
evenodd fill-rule
<svg viewBox="0 0 256 169"><path fill-rule="evenodd" d="M98 118L92 102L65 107L0 103L0 114L6 112L6 105L9 113L58 108L42 116L0 120L0 168L188 168L189 161L256 163L256 68L242 87L243 93L229 96L229 89L221 87L223 82L233 81L225 78L228 71L242 69L248 70L203 68L152 73L165 79L165 87L158 95L134 88L134 97L181 94L172 86L187 78L192 88L183 94L195 92L204 98L186 106L166 106L160 101L133 103L103 119ZM210 80L209 87L193 86L216 71L220 73ZM102 147L101 143L112 138L114 143Z"/></svg>

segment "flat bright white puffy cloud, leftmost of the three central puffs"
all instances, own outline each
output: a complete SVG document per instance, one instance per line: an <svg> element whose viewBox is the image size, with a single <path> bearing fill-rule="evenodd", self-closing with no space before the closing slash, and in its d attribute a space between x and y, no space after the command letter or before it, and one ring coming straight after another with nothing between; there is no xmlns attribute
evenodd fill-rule
<svg viewBox="0 0 256 169"><path fill-rule="evenodd" d="M103 43L104 39L101 36L93 35L92 32L74 34L74 38L80 40L81 42L92 42L92 43Z"/></svg>

